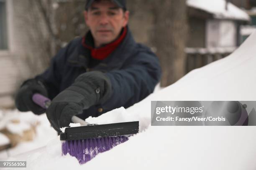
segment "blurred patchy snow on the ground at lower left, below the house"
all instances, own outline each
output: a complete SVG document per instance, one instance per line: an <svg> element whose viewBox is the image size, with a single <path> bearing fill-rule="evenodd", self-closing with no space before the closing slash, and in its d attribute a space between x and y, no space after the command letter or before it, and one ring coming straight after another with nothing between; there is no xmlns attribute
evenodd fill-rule
<svg viewBox="0 0 256 170"><path fill-rule="evenodd" d="M28 130L31 125L35 125L36 135L34 136L33 141L22 141L14 148L0 151L0 160L6 160L8 156L15 157L24 152L44 147L49 140L52 140L52 138L57 136L57 133L51 128L46 115L38 116L34 115L32 112L19 112L18 110L1 112L3 117L0 119L0 129L7 128L10 132L21 135L24 130ZM10 120L19 120L20 122L15 124ZM0 143L3 141L6 143L7 139L0 137ZM8 139L8 143L9 142Z"/></svg>

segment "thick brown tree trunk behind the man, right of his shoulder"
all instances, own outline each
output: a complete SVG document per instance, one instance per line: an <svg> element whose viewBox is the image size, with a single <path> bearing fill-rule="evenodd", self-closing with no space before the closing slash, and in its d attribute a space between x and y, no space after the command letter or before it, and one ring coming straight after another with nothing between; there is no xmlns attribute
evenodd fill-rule
<svg viewBox="0 0 256 170"><path fill-rule="evenodd" d="M155 1L156 54L162 68L161 86L166 87L185 74L187 38L186 0Z"/></svg>

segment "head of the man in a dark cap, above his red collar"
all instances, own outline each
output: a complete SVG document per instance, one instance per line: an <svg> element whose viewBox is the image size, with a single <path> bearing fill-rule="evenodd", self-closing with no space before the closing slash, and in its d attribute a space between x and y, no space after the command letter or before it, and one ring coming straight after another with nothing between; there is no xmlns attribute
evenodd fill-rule
<svg viewBox="0 0 256 170"><path fill-rule="evenodd" d="M100 0L93 2L88 11L84 11L84 19L92 32L95 47L99 47L118 37L128 23L129 12L123 12L110 0Z"/></svg>

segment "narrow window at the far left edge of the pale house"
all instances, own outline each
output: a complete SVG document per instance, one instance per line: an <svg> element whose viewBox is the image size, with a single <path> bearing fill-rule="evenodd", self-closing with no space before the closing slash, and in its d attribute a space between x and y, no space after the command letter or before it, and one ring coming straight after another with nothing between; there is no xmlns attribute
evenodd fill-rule
<svg viewBox="0 0 256 170"><path fill-rule="evenodd" d="M6 3L0 0L0 50L7 50Z"/></svg>

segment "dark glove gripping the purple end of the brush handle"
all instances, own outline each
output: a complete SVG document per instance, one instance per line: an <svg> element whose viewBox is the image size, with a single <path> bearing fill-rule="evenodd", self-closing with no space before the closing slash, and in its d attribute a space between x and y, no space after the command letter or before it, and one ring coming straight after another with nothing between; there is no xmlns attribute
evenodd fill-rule
<svg viewBox="0 0 256 170"><path fill-rule="evenodd" d="M21 112L32 111L36 115L44 113L46 110L33 102L32 96L34 93L40 93L48 97L47 90L41 81L29 79L23 82L15 97L17 109Z"/></svg>

